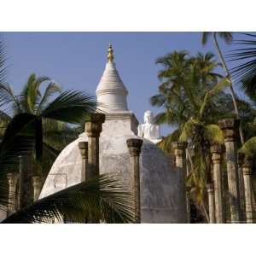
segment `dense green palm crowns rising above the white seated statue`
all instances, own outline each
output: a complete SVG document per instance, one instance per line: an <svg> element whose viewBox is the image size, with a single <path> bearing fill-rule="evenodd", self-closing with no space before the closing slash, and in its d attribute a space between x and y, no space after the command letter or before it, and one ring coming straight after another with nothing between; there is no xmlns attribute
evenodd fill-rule
<svg viewBox="0 0 256 256"><path fill-rule="evenodd" d="M211 53L199 53L190 57L188 52L173 52L156 61L163 66L158 77L160 79L159 94L152 96L153 106L164 108L157 114L155 122L158 124L183 125L195 109L199 110L207 90L214 86L221 75L215 73L219 63L213 59ZM195 84L193 91L191 84ZM219 101L226 100L225 94L220 93ZM223 97L225 99L223 99ZM221 115L221 110L212 106L212 110ZM219 106L218 106L219 107ZM207 116L210 119L212 115Z"/></svg>

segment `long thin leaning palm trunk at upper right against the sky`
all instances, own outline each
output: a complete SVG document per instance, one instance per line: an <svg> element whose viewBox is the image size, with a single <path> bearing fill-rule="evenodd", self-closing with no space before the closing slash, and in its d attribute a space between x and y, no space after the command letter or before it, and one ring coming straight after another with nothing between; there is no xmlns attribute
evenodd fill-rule
<svg viewBox="0 0 256 256"><path fill-rule="evenodd" d="M228 67L227 67L227 65L224 61L224 55L222 54L221 49L219 48L219 45L218 45L217 33L216 32L213 32L213 42L214 42L215 47L217 49L218 57L221 61L222 67L224 68L224 72L226 73L227 77L230 79L230 94L232 96L232 101L233 101L233 105L234 105L234 108L235 108L236 118L240 119L238 108L237 108L237 102L236 102L236 93L235 93L234 88L233 88L233 84L232 84L229 69L228 69ZM239 134L240 134L241 144L243 144L244 143L244 136L243 136L243 132L242 132L242 129L241 129L241 123L239 125Z"/></svg>

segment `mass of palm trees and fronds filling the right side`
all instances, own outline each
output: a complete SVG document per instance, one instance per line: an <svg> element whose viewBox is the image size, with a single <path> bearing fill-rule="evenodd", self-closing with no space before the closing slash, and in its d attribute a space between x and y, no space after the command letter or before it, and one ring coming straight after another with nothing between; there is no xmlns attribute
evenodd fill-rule
<svg viewBox="0 0 256 256"><path fill-rule="evenodd" d="M212 183L210 147L214 144L224 144L218 120L240 119L241 140L238 147L248 155L255 156L256 153L256 79L253 69L256 67L255 49L236 49L232 52L230 58L242 60L246 59L245 56L252 57L254 54L254 62L246 62L230 70L217 38L223 38L226 43L231 44L233 34L204 32L203 44L207 43L211 34L219 58L210 52L189 55L187 50L175 50L158 58L156 64L160 66L159 93L150 98L151 104L161 110L155 116L155 123L171 125L173 129L159 143L159 147L167 153L172 153L172 142L188 142L187 189L191 204L204 216L204 221L208 220L206 187L207 183ZM248 41L239 43L248 44ZM249 43L255 46L252 40L249 40ZM237 84L236 90L241 90L247 97L236 95L234 81Z"/></svg>

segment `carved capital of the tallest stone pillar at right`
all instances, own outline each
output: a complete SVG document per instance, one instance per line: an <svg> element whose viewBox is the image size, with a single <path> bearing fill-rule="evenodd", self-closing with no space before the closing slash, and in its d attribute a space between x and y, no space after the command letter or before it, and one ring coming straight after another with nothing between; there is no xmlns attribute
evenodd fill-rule
<svg viewBox="0 0 256 256"><path fill-rule="evenodd" d="M225 141L234 141L240 124L239 119L222 119L218 121L219 128L224 133Z"/></svg>

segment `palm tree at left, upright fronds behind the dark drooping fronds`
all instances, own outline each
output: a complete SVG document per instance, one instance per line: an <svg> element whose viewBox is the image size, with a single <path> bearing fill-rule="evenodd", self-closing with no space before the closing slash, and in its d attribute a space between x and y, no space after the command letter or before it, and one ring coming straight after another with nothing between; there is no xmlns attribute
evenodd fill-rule
<svg viewBox="0 0 256 256"><path fill-rule="evenodd" d="M44 93L42 93L41 87L44 84L47 86ZM9 84L0 84L0 94L6 100L4 108L7 108L6 105L8 103L10 107L9 110L11 111L11 114L9 115L5 113L6 118L2 119L2 123L5 121L6 125L11 119L11 116L17 113L40 114L42 109L44 109L45 104L51 99L51 96L60 93L60 85L56 84L48 77L37 78L34 73L30 75L23 90L18 96L15 96L15 93ZM56 156L77 136L78 132L67 125L67 123L55 119L43 120L44 157L38 160L37 163L34 163L36 165L35 175L42 177L42 183L44 183L44 179L47 177L49 168L52 166ZM44 166L44 168L42 168L42 166Z"/></svg>

